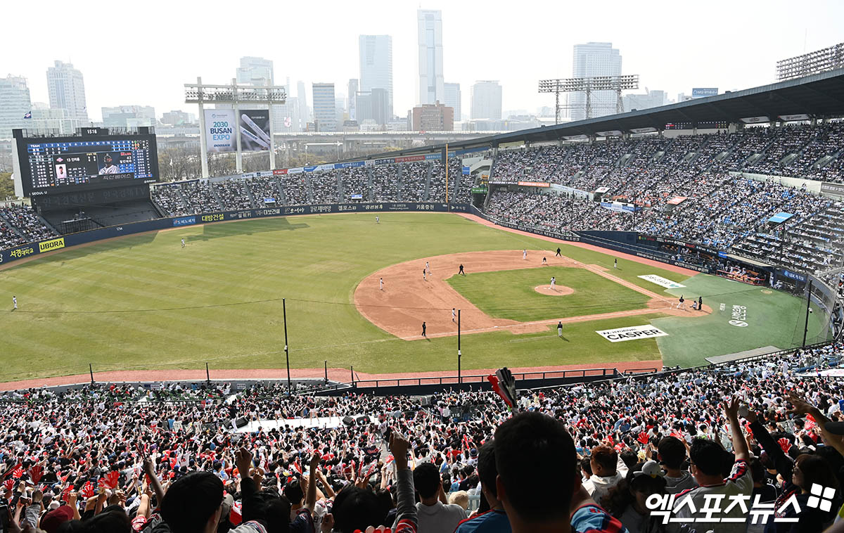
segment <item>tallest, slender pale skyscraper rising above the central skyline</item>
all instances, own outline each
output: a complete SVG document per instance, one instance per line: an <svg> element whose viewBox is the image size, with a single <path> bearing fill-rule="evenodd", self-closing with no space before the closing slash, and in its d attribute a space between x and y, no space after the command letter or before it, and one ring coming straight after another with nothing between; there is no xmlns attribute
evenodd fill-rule
<svg viewBox="0 0 844 533"><path fill-rule="evenodd" d="M419 87L416 101L433 104L445 100L442 76L442 12L418 9L419 30Z"/></svg>

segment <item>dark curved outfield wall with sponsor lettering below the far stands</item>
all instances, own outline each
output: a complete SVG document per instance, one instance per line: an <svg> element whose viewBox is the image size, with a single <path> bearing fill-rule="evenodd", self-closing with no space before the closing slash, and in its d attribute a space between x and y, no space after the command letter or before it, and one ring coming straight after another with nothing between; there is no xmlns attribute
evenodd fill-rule
<svg viewBox="0 0 844 533"><path fill-rule="evenodd" d="M48 251L62 250L69 246L84 245L97 240L112 239L123 235L138 234L160 229L180 228L196 224L224 222L230 220L249 220L252 218L285 217L288 215L310 215L328 213L468 213L466 203L443 202L376 202L376 203L333 203L313 206L285 206L262 207L259 209L241 209L239 211L217 211L212 213L198 213L184 217L156 218L109 226L107 228L90 229L75 234L62 235L55 239L20 245L8 250L0 250L0 265L11 261L24 259Z"/></svg>

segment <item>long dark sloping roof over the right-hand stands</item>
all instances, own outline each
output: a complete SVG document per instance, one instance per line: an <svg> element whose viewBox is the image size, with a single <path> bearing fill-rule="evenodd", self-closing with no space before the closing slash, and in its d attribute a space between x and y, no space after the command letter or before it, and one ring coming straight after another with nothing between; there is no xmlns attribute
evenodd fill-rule
<svg viewBox="0 0 844 533"><path fill-rule="evenodd" d="M808 115L818 118L844 116L844 68L647 110L629 111L619 115L478 137L461 143L449 143L449 150L525 141L542 143L557 141L563 137L591 136L597 135L598 132L609 131L631 132L640 128L662 130L666 124L672 123L693 125L700 122L736 123L743 118L760 116L776 120L777 116L784 115ZM432 152L442 148L445 148L444 144L427 145L384 155L391 157Z"/></svg>

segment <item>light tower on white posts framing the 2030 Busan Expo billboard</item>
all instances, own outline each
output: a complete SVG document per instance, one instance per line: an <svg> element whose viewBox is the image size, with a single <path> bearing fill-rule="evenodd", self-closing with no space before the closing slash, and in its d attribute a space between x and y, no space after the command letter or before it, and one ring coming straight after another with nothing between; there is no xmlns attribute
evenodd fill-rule
<svg viewBox="0 0 844 533"><path fill-rule="evenodd" d="M199 146L202 149L203 178L208 177L208 139L205 137L205 104L228 104L235 107L235 137L237 139L237 172L243 172L241 153L241 104L264 104L269 108L269 166L275 170L275 141L273 139L273 105L287 101L287 92L282 85L238 85L236 79L230 85L204 85L203 78L197 83L185 83L185 103L199 105Z"/></svg>

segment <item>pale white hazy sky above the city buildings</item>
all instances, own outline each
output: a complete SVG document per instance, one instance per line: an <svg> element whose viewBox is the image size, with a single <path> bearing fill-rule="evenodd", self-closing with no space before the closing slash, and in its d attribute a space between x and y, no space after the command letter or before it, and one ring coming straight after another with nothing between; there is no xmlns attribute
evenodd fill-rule
<svg viewBox="0 0 844 533"><path fill-rule="evenodd" d="M183 83L228 83L241 56L273 60L275 82L358 78L358 35L392 35L394 110L415 104L416 9L441 9L446 82L461 84L463 112L475 80L498 79L504 110L554 105L539 78L571 76L571 46L611 41L639 91L670 98L692 87L746 89L774 80L778 59L844 41L844 2L99 2L3 5L0 76L28 78L46 102L46 68L73 62L84 74L89 116L100 107L153 105L196 113Z"/></svg>

